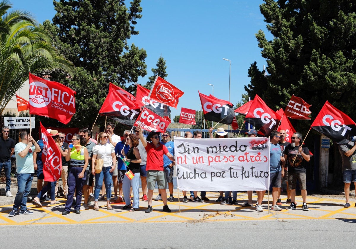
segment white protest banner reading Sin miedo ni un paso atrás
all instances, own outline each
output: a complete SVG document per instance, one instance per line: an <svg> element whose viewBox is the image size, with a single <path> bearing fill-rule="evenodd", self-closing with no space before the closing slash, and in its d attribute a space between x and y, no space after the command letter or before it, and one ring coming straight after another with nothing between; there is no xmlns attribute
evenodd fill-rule
<svg viewBox="0 0 356 249"><path fill-rule="evenodd" d="M269 138L174 137L180 190L267 190Z"/></svg>

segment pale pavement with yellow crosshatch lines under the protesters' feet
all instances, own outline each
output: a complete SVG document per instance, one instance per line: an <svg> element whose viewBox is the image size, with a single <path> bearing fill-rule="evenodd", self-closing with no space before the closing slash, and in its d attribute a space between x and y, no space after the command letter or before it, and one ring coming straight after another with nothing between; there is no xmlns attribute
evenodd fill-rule
<svg viewBox="0 0 356 249"><path fill-rule="evenodd" d="M251 220L278 220L278 221L299 221L303 219L355 219L356 207L344 208L345 200L342 196L332 198L327 195L311 195L307 200L309 211L302 210L302 199L297 196L298 203L296 210L287 210L287 204L281 205L282 211L269 210L268 196L263 199L263 212L257 212L255 207L242 207L246 202L246 194L238 195L238 205L220 205L215 202L215 197L208 196L211 201L198 203L180 203L181 212L179 213L178 202L167 202L171 213L162 212L163 202L152 201L153 211L145 213L147 202L140 202L140 208L134 212L122 210L125 203L112 203L112 210L106 209L106 201L99 202L100 210L94 211L93 205L89 210L82 210L80 214L72 212L66 216L64 211L65 199L57 198L61 201L60 205L49 205L43 202L43 207L37 207L32 203L27 203L27 208L33 211L33 215L15 215L9 217L12 205L0 206L0 225L49 225L49 224L94 224L94 223L157 223L157 222L229 222L229 221L251 221ZM283 196L284 197L284 196ZM214 199L214 200L213 200ZM282 198L285 201L287 198ZM252 197L253 203L256 202L256 195ZM284 203L284 202L283 202ZM269 198L269 207L272 205L272 197Z"/></svg>

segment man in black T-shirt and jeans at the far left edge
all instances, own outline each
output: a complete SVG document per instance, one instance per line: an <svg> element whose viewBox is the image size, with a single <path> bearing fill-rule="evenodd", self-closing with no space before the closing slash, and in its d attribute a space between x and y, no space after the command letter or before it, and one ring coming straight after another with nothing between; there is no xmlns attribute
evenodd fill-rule
<svg viewBox="0 0 356 249"><path fill-rule="evenodd" d="M0 139L0 173L2 168L4 168L6 176L6 196L12 197L10 186L11 186L11 156L14 154L15 141L9 137L10 128L4 126L1 129L2 136Z"/></svg>

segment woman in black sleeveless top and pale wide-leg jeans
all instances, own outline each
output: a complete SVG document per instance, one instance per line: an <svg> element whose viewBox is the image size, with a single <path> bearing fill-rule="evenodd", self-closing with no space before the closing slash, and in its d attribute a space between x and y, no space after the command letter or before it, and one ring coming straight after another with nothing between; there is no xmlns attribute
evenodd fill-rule
<svg viewBox="0 0 356 249"><path fill-rule="evenodd" d="M122 161L128 161L130 164L127 165L126 171L131 170L134 174L132 179L129 179L128 176L124 176L122 180L122 191L124 192L125 196L125 203L126 205L122 207L122 209L129 209L129 212L136 211L139 206L140 201L140 190L138 188L140 179L140 163L141 163L141 156L140 152L138 151L138 139L134 134L129 134L127 137L126 143L130 146L129 151L125 155L124 150L121 150L121 154L125 155L126 158L123 158ZM126 196L130 196L130 187L132 187L132 194L133 194L133 202L131 207L131 199L126 198Z"/></svg>

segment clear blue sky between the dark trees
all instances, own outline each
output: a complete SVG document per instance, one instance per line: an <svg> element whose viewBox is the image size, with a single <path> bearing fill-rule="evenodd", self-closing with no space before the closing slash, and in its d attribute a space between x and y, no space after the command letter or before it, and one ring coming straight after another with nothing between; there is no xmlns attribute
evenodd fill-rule
<svg viewBox="0 0 356 249"><path fill-rule="evenodd" d="M127 1L129 2L129 1ZM198 90L206 95L229 99L229 62L231 60L230 102L241 101L244 85L250 82L247 70L257 62L263 69L265 59L257 46L255 34L263 30L271 35L260 12L262 0L143 0L142 18L130 39L147 52L147 75L139 78L144 85L152 76L162 55L166 60L167 81L184 91L177 110L171 108L172 119L180 108L200 110ZM42 23L55 15L52 0L12 0L14 9L30 11Z"/></svg>

